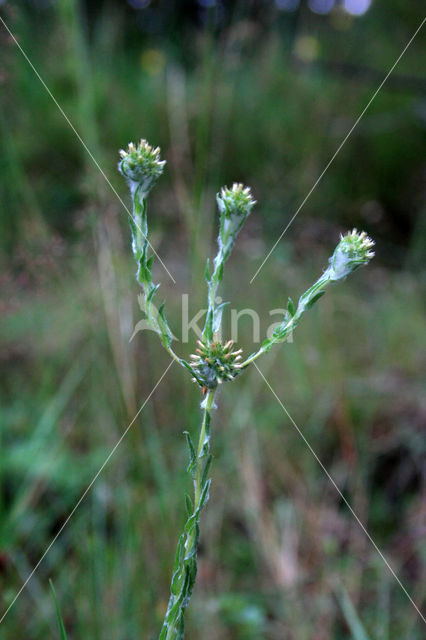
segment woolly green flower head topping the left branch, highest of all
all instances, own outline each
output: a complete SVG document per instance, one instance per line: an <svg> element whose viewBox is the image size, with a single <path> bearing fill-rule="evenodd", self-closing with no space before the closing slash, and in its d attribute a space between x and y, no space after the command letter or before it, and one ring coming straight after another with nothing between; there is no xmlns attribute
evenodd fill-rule
<svg viewBox="0 0 426 640"><path fill-rule="evenodd" d="M120 156L118 169L130 186L141 186L145 194L149 193L166 164L165 160L160 160L160 148L154 149L146 140L141 140L138 145L130 142L127 151L120 150Z"/></svg>

